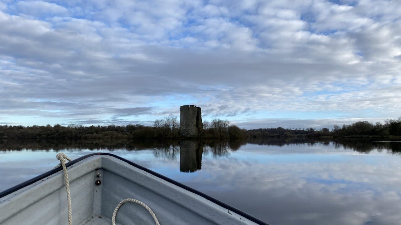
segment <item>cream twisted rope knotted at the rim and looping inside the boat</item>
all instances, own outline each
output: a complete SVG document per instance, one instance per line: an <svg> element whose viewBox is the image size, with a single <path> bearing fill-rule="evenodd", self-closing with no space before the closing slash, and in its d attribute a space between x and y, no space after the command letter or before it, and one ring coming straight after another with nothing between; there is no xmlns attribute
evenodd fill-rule
<svg viewBox="0 0 401 225"><path fill-rule="evenodd" d="M67 160L71 161L71 159L69 157L67 157L67 155L65 155L64 153L58 153L56 155L56 158L60 161L60 163L59 163L59 165L57 165L54 168L57 168L61 165L63 167L63 171L64 171L65 189L67 190L67 201L68 201L68 225L72 225L73 219L72 219L72 209L71 209L70 185L69 185L69 181L68 181L67 167L65 166L65 164L67 163ZM143 203L142 201L139 201L137 199L124 199L123 201L118 203L117 207L115 207L115 209L114 209L113 216L111 217L112 225L115 225L115 216L117 215L118 209L122 206L122 204L124 204L126 202L134 202L139 205L142 205L145 209L147 209L149 211L150 215L152 215L156 225L160 225L159 220L157 219L156 214L154 214L152 209L150 209L150 207L148 205L146 205L145 203Z"/></svg>

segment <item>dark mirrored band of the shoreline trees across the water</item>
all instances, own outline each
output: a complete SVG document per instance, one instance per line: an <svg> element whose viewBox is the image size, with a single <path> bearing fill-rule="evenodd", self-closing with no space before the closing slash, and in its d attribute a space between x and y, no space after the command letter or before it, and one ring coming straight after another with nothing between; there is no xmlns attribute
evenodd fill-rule
<svg viewBox="0 0 401 225"><path fill-rule="evenodd" d="M182 145L188 141L132 141L126 139L89 139L89 140L1 140L0 151L98 151L98 150L128 150L138 151L143 149L153 149L154 156L166 160L177 160L178 152ZM194 142L194 140L189 141ZM397 140L380 139L328 139L328 138L263 138L263 139L235 139L235 140L203 140L196 145L203 147L203 155L212 154L215 157L228 156L230 151L236 151L246 144L266 145L266 146L316 146L330 144L336 149L351 149L359 153L370 153L372 151L388 151L392 154L401 154L401 142Z"/></svg>

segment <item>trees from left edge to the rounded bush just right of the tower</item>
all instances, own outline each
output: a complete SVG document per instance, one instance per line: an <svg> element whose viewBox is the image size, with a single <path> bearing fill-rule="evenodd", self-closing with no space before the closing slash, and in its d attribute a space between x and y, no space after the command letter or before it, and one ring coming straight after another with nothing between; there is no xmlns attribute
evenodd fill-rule
<svg viewBox="0 0 401 225"><path fill-rule="evenodd" d="M213 119L203 123L202 138L244 138L246 130L230 125L230 121ZM177 117L164 117L153 126L108 125L89 126L70 124L62 126L0 126L0 139L178 139L180 122Z"/></svg>

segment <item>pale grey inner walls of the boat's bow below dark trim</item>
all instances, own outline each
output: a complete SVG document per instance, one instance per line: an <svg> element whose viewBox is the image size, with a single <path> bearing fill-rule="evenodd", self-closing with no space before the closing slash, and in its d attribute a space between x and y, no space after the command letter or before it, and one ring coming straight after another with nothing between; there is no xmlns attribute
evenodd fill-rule
<svg viewBox="0 0 401 225"><path fill-rule="evenodd" d="M111 224L115 207L126 198L146 203L162 225L266 224L120 157L102 153L81 158L67 164L73 225ZM49 171L0 193L0 212L1 225L68 224L63 171ZM125 203L116 223L151 225L154 220L142 206Z"/></svg>

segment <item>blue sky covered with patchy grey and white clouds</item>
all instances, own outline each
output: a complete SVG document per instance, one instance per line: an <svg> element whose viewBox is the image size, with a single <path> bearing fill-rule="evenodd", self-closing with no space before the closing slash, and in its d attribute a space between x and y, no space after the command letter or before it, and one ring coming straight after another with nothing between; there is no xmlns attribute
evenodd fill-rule
<svg viewBox="0 0 401 225"><path fill-rule="evenodd" d="M401 116L401 1L0 0L0 125Z"/></svg>

